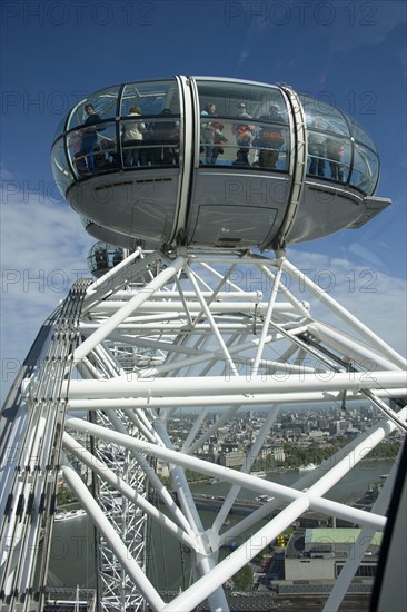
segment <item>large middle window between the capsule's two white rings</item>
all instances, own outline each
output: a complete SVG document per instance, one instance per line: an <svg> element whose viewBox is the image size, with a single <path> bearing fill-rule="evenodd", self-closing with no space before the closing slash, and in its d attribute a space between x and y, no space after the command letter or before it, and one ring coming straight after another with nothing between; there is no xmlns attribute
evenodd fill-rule
<svg viewBox="0 0 407 612"><path fill-rule="evenodd" d="M289 129L278 88L198 80L200 164L287 170Z"/></svg>

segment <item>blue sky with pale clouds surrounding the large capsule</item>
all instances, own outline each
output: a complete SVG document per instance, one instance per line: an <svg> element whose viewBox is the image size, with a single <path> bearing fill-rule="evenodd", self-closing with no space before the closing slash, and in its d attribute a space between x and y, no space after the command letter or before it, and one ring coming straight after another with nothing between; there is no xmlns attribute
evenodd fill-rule
<svg viewBox="0 0 407 612"><path fill-rule="evenodd" d="M335 296L406 352L405 2L3 0L1 10L2 398L95 241L53 182L59 121L87 93L175 73L285 82L367 129L381 158L377 195L393 206L288 256L311 277L332 270Z"/></svg>

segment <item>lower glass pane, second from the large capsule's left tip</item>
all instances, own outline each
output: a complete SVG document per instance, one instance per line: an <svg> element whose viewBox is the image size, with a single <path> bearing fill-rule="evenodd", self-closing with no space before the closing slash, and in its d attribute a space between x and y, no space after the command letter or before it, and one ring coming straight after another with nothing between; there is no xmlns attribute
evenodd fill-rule
<svg viewBox="0 0 407 612"><path fill-rule="evenodd" d="M116 124L70 131L67 148L77 178L118 168Z"/></svg>

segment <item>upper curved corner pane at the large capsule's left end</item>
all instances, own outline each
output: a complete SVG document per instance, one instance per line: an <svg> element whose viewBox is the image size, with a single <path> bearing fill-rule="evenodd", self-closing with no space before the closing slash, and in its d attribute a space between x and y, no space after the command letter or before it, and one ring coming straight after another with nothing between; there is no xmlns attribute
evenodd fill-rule
<svg viewBox="0 0 407 612"><path fill-rule="evenodd" d="M89 96L72 112L67 129L115 119L120 86L109 87Z"/></svg>

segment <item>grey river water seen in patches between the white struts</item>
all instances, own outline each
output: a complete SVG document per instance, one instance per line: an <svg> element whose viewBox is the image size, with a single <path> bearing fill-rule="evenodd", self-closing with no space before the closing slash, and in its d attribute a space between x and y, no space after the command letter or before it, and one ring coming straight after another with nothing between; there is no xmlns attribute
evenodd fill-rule
<svg viewBox="0 0 407 612"><path fill-rule="evenodd" d="M351 470L340 483L335 485L326 496L344 503L360 497L369 484L379 480L381 474L390 472L391 461L366 461ZM268 472L267 480L278 484L291 485L301 474L296 470L285 472ZM191 485L192 493L224 496L228 485L224 483L196 483ZM239 500L252 500L256 493L241 490ZM212 512L200 512L205 527L214 521ZM241 517L229 515L230 526ZM150 559L150 580L160 589L178 589L182 586L182 574L188 580L189 555L179 554L177 541L153 526L153 546L148 552ZM166 556L161 554L162 541L166 539ZM227 553L225 553L227 554ZM168 562L169 561L169 562ZM181 566L181 561L183 567ZM50 571L48 584L52 586L79 585L83 589L95 589L95 546L93 526L87 516L56 523L52 534Z"/></svg>

